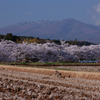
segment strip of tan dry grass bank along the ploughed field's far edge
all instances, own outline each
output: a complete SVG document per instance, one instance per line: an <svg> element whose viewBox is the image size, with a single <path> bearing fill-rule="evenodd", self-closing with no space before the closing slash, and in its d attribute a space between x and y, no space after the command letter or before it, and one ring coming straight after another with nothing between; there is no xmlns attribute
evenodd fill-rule
<svg viewBox="0 0 100 100"><path fill-rule="evenodd" d="M6 68L12 71L37 73L37 74L45 74L45 75L51 75L55 71L54 69L17 67L17 66L7 66L7 65L0 65L0 67ZM59 70L59 72L62 74L62 76L65 76L65 77L70 76L71 78L100 80L100 73L97 73L97 72L64 71L64 70Z"/></svg>

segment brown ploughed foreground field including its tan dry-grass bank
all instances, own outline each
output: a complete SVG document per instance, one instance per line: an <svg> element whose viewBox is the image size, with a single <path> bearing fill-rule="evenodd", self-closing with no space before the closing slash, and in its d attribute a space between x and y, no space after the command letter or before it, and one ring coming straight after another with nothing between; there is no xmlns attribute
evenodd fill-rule
<svg viewBox="0 0 100 100"><path fill-rule="evenodd" d="M0 100L100 100L100 74L0 65Z"/></svg>

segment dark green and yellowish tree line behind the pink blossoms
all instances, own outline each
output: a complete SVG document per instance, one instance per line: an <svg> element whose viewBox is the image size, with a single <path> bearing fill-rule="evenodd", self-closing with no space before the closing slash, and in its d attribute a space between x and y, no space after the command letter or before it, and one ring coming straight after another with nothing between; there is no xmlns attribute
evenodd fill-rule
<svg viewBox="0 0 100 100"><path fill-rule="evenodd" d="M13 35L12 33L7 33L6 35L0 35L0 41L4 39L4 40L11 40L13 42L16 42L16 43L22 43L22 42L27 42L27 43L46 43L46 42L54 42L58 45L61 45L60 43L60 40L56 40L56 39L40 39L39 37L32 37L32 36L16 36L16 35ZM77 39L75 40L67 40L65 43L69 43L69 45L78 45L78 46L88 46L88 45L91 45L91 44L94 44L94 43L91 43L91 42L87 42L87 41L78 41Z"/></svg>

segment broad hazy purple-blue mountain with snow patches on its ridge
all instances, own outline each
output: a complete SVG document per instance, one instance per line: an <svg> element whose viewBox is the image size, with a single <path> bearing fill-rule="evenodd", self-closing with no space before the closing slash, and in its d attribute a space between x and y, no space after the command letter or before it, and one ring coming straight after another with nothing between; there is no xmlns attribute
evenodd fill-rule
<svg viewBox="0 0 100 100"><path fill-rule="evenodd" d="M75 19L62 21L43 20L21 22L0 28L0 34L12 33L17 36L33 36L46 39L81 40L100 43L100 26L86 24Z"/></svg>

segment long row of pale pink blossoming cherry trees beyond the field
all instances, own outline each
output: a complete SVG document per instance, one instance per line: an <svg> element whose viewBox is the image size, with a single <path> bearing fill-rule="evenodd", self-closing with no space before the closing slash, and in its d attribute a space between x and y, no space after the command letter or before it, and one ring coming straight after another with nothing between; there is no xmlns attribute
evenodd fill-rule
<svg viewBox="0 0 100 100"><path fill-rule="evenodd" d="M61 41L61 45L55 43L22 43L13 41L0 42L0 61L22 62L78 62L79 60L98 60L100 56L100 45L79 47L69 45Z"/></svg>

